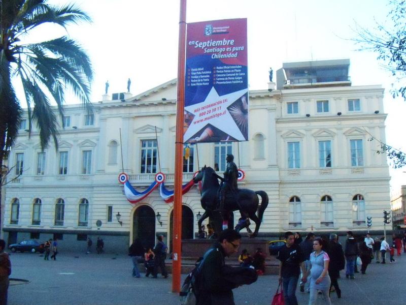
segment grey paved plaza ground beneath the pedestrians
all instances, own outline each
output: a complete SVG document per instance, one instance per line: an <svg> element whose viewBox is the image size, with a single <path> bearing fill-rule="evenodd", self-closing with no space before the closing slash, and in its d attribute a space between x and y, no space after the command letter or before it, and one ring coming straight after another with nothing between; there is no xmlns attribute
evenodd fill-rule
<svg viewBox="0 0 406 305"><path fill-rule="evenodd" d="M13 253L10 258L11 278L29 283L10 286L9 305L179 303L178 295L171 293L172 275L168 279L145 278L144 274L140 279L132 278L128 256L61 253L56 261L44 261L39 254ZM393 264L371 263L367 274L357 273L355 280L346 279L342 272L342 298L333 293L332 303L406 304L406 255L395 259ZM250 286L234 289L236 305L270 305L277 283L277 276L262 276ZM308 293L298 291L297 296L299 304L308 304Z"/></svg>

